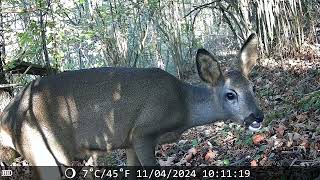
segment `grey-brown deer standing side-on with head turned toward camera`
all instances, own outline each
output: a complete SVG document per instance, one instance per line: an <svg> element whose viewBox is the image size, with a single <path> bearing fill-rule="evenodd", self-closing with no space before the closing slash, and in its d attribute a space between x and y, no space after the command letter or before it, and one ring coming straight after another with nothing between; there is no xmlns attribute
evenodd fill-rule
<svg viewBox="0 0 320 180"><path fill-rule="evenodd" d="M251 34L238 66L226 72L209 51L198 49L196 67L206 86L158 68L102 67L36 79L4 109L0 143L35 166L69 166L115 149L126 149L128 166L155 166L156 145L192 127L231 119L259 130L264 113L249 80L257 45ZM47 178L41 170L38 176Z"/></svg>

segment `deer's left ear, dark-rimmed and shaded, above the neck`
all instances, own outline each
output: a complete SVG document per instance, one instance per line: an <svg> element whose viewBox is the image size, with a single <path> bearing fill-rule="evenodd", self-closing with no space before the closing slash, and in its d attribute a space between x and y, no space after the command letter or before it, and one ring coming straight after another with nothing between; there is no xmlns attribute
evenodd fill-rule
<svg viewBox="0 0 320 180"><path fill-rule="evenodd" d="M200 78L207 83L216 84L222 73L213 55L205 49L198 49L196 61Z"/></svg>

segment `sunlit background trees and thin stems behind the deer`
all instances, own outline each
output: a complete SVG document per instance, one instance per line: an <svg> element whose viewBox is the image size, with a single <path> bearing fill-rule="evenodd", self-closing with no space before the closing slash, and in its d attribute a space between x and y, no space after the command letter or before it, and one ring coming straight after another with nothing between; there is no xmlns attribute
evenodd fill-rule
<svg viewBox="0 0 320 180"><path fill-rule="evenodd" d="M252 32L261 55L281 61L319 43L316 0L0 2L0 69L11 83L25 78L9 71L20 61L57 71L160 67L184 78L194 69L197 48L228 61Z"/></svg>

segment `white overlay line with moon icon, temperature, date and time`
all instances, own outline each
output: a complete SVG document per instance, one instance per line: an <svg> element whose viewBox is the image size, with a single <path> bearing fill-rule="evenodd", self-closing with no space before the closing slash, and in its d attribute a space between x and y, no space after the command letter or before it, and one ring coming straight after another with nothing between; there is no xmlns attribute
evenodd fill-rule
<svg viewBox="0 0 320 180"><path fill-rule="evenodd" d="M82 173L77 172L73 168L67 168L65 170L65 177L73 179L76 176L93 176L95 178L118 178L118 177L129 177L130 175L136 176L137 178L246 178L250 177L250 170L212 170L202 169L200 171L192 169L137 169L132 172L132 169L83 169Z"/></svg>

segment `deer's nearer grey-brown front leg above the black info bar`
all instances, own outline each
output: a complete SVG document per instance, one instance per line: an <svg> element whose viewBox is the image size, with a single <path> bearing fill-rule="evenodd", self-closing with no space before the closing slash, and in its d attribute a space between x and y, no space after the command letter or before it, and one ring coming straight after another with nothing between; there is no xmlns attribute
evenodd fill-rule
<svg viewBox="0 0 320 180"><path fill-rule="evenodd" d="M138 137L134 139L133 149L142 166L156 165L155 146L156 143L152 137Z"/></svg>

